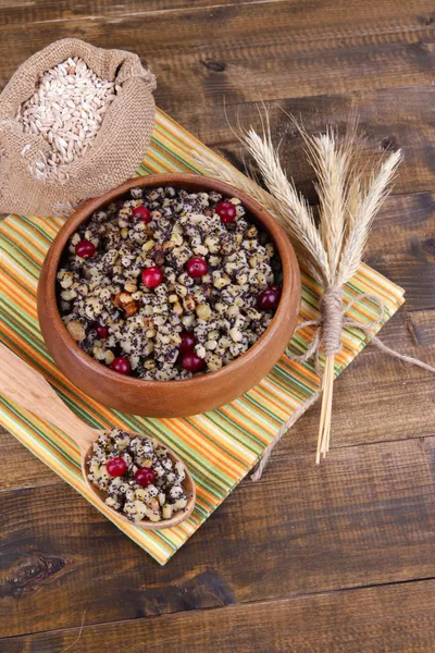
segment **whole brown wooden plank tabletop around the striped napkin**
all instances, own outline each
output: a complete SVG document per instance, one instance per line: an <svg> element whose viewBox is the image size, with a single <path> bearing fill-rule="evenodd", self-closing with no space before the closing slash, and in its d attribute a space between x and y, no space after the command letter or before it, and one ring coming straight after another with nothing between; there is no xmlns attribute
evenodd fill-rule
<svg viewBox="0 0 435 653"><path fill-rule="evenodd" d="M0 0L0 85L62 36L139 53L159 106L236 165L225 119L271 108L288 172L301 141L351 108L366 152L405 163L366 260L403 286L382 332L435 361L433 0ZM336 384L333 451L319 408L161 568L1 433L1 653L435 651L435 381L369 347ZM66 519L65 519L66 518ZM83 629L80 629L83 625Z"/></svg>

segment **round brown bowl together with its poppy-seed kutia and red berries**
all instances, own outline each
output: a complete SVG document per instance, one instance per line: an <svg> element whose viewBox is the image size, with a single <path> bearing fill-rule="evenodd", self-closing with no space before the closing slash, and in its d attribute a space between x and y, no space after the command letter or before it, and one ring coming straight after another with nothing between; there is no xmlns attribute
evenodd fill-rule
<svg viewBox="0 0 435 653"><path fill-rule="evenodd" d="M264 377L296 325L293 248L249 197L154 175L89 200L46 258L38 315L58 366L103 404L211 410Z"/></svg>

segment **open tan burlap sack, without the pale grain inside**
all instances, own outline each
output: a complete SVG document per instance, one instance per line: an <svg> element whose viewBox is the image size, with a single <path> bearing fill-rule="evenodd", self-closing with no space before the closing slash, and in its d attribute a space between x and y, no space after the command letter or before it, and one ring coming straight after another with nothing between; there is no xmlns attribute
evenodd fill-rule
<svg viewBox="0 0 435 653"><path fill-rule="evenodd" d="M122 90L110 103L88 151L62 165L67 180L37 181L29 163L51 148L40 135L23 133L16 111L34 94L41 73L75 56L98 76L116 81ZM70 214L80 201L133 176L151 137L154 88L154 76L141 66L137 54L96 48L75 38L55 41L27 59L0 95L0 212Z"/></svg>

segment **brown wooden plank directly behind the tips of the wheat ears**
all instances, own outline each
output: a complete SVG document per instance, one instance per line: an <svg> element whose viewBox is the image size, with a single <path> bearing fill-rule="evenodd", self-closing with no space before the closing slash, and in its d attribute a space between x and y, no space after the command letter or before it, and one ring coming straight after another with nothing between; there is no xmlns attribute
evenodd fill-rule
<svg viewBox="0 0 435 653"><path fill-rule="evenodd" d="M365 138L362 141L362 165L369 160L380 159L387 150L401 149L403 162L393 192L403 195L435 189L434 106L433 85L264 102L270 116L272 140L276 146L281 144L282 164L295 180L298 190L311 202L316 200L312 168L307 159L303 138L287 114L301 120L309 134L323 132L327 124L344 134L355 112L359 119L360 134ZM175 109L174 118L206 145L221 150L236 168L245 170L249 157L237 139L237 125L245 128L252 126L261 134L264 110L258 101L226 107L216 102L207 112L201 111L200 106L186 103Z"/></svg>

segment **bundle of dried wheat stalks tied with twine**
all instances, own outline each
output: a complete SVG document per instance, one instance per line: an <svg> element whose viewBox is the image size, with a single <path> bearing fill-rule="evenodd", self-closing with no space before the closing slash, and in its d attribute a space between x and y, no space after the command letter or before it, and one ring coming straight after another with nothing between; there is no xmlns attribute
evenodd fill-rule
<svg viewBox="0 0 435 653"><path fill-rule="evenodd" d="M296 123L293 116L288 118ZM238 171L234 170L232 174L206 155L195 155L210 176L245 189L275 217L294 243L304 267L324 287L319 341L325 365L316 463L321 456L326 456L330 448L334 359L341 349L341 288L357 272L371 224L388 195L390 181L401 159L400 151L395 151L370 167L362 167L361 141L358 145L356 124L355 120L350 121L350 128L343 139L333 130L309 136L297 125L316 176L318 221L312 208L298 194L281 165L278 151L272 143L268 114L262 135L250 128L240 131L239 138L252 156L270 193Z"/></svg>

